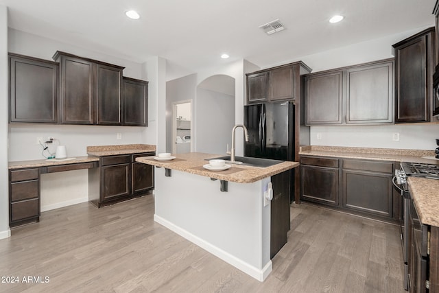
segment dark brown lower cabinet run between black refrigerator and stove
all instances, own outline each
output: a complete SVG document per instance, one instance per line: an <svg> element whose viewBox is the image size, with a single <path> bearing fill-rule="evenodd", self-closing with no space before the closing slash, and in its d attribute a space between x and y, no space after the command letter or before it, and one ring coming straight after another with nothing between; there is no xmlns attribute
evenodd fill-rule
<svg viewBox="0 0 439 293"><path fill-rule="evenodd" d="M300 198L379 220L395 222L401 197L392 187L393 162L300 157Z"/></svg>

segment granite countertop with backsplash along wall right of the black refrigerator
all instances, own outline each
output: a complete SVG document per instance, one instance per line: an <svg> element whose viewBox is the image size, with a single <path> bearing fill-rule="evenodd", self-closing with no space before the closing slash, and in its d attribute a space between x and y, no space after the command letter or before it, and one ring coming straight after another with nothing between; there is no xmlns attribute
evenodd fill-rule
<svg viewBox="0 0 439 293"><path fill-rule="evenodd" d="M306 145L300 147L299 154L307 156L331 156L346 159L368 159L379 161L439 164L439 160L434 158L434 150L349 148Z"/></svg>

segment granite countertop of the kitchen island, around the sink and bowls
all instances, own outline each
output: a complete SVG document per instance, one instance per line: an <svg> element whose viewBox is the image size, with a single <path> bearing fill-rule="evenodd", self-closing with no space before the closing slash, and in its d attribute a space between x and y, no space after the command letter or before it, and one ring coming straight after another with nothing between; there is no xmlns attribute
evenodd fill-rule
<svg viewBox="0 0 439 293"><path fill-rule="evenodd" d="M212 159L219 154L205 154L202 152L190 152L186 154L174 154L176 159L171 161L156 161L154 156L142 156L137 158L137 162L154 165L156 167L165 167L182 172L188 172L195 175L206 176L219 180L225 180L235 183L254 183L263 178L298 167L299 163L285 161L270 167L251 167L246 165L232 165L230 169L224 171L209 171L202 166L208 164L206 159Z"/></svg>

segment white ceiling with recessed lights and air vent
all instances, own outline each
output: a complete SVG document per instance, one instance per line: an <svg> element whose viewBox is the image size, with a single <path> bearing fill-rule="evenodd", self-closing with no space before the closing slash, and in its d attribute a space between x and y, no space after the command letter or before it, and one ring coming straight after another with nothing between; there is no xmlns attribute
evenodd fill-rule
<svg viewBox="0 0 439 293"><path fill-rule="evenodd" d="M8 24L65 43L144 62L161 56L195 73L246 59L259 67L434 25L436 0L0 0ZM134 9L141 19L128 19ZM344 21L330 24L333 14ZM268 36L259 25L280 19ZM227 60L219 56L226 52ZM172 73L167 73L172 75ZM167 78L169 80L169 76Z"/></svg>

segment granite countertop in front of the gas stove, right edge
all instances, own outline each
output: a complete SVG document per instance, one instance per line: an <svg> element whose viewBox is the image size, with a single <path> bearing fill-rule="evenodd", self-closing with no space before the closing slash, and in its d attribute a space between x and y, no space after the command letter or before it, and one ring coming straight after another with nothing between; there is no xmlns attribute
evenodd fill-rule
<svg viewBox="0 0 439 293"><path fill-rule="evenodd" d="M439 227L439 180L408 177L407 182L420 222Z"/></svg>

